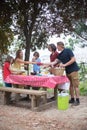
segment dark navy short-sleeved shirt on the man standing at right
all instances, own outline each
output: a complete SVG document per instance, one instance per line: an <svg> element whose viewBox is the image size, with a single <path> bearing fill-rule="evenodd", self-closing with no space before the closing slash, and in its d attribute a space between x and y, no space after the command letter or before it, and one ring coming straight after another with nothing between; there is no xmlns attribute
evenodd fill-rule
<svg viewBox="0 0 87 130"><path fill-rule="evenodd" d="M70 59L74 57L74 54L73 52L69 49L69 48L65 48L61 53L59 53L58 55L58 59L63 63L67 63L68 61L70 61ZM65 67L65 70L66 70L66 73L67 74L70 74L74 71L78 71L79 70L79 67L77 65L76 62L72 63L71 65L69 66L66 66Z"/></svg>

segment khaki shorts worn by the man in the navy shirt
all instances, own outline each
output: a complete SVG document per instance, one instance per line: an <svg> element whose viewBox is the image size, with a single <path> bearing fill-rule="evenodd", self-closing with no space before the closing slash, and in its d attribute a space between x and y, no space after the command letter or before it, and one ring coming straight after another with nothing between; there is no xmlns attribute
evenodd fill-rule
<svg viewBox="0 0 87 130"><path fill-rule="evenodd" d="M78 71L67 74L67 77L70 80L71 86L73 86L73 87L78 87L79 86Z"/></svg>

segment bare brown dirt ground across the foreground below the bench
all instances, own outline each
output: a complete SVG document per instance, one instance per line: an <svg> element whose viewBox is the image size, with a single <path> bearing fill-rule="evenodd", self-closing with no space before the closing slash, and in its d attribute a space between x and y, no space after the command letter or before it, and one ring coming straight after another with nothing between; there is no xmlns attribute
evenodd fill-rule
<svg viewBox="0 0 87 130"><path fill-rule="evenodd" d="M0 98L0 130L87 130L87 96L80 100L79 106L69 106L65 111L54 105L34 112L17 105L3 105Z"/></svg>

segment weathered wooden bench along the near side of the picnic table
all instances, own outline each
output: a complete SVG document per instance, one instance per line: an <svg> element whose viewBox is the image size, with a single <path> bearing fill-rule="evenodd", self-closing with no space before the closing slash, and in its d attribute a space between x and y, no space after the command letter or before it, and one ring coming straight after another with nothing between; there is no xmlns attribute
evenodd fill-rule
<svg viewBox="0 0 87 130"><path fill-rule="evenodd" d="M43 90L30 90L21 88L0 87L3 92L4 104L10 104L11 93L27 94L31 98L31 109L39 106L40 98L43 97L43 103L47 102L47 91Z"/></svg>

